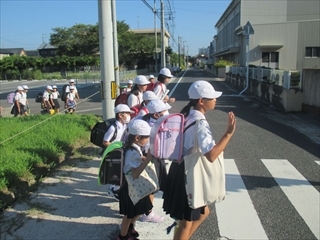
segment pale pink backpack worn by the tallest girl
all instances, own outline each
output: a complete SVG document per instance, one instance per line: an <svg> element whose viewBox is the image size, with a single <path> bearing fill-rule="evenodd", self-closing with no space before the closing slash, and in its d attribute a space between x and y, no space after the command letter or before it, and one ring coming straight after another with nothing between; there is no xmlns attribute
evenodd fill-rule
<svg viewBox="0 0 320 240"><path fill-rule="evenodd" d="M151 155L161 160L180 162L183 150L184 116L173 113L159 118L150 133Z"/></svg>

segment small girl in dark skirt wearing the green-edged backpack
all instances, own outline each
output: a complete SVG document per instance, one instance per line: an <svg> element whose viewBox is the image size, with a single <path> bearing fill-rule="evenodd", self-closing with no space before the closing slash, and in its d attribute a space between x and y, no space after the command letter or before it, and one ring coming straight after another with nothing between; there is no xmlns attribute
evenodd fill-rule
<svg viewBox="0 0 320 240"><path fill-rule="evenodd" d="M124 147L124 174L128 174L131 171L132 176L138 178L151 161L150 154L144 157L141 152L141 147L149 141L150 131L151 127L149 124L141 119L133 120L129 124L129 136ZM119 189L120 214L124 216L117 240L134 240L139 237L134 224L142 214L148 215L152 207L149 196L140 199L138 203L133 205L128 193L128 183L125 180Z"/></svg>

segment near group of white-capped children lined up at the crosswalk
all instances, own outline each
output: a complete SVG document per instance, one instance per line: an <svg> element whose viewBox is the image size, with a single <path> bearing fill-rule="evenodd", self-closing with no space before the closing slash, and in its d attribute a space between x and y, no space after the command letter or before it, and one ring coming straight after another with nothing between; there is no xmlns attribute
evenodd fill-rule
<svg viewBox="0 0 320 240"><path fill-rule="evenodd" d="M128 133L126 140L123 140L126 149L123 174L131 172L134 178L138 178L150 162L155 164L160 190L163 191L163 210L171 218L178 220L174 239L189 239L209 215L209 208L208 206L202 206L198 209L189 207L183 161L180 164L172 162L167 172L165 161L154 158L149 151L151 127L158 118L169 114L168 110L171 106L167 102L175 100L164 95L167 93L165 83L171 77L169 69L161 69L154 91L146 91L150 81L144 76L138 76L135 79L135 86L131 90L132 94L129 96L131 99L128 101L128 105L119 104L115 107L117 123L106 132L103 144L108 146L112 141L121 141L126 135L125 133ZM221 94L222 92L215 91L213 86L206 81L196 81L190 86L188 90L190 101L181 111L185 116L185 128L187 129L184 132L183 156L191 153L195 132L197 132L197 141L201 152L210 162L213 162L227 146L236 127L234 114L229 112L227 130L218 142L213 139L209 123L205 118L206 112L215 108L216 98ZM130 107L133 104L143 104L144 107L137 117L131 119ZM199 124L193 124L195 121L199 121ZM190 127L188 127L189 125ZM117 128L116 138L113 137L115 128ZM140 199L134 205L129 197L128 183L125 180L117 193L120 214L124 215L117 240L137 239L139 233L134 226L141 217L142 219L149 216L158 218L158 222L162 220L155 217L152 212L153 194Z"/></svg>

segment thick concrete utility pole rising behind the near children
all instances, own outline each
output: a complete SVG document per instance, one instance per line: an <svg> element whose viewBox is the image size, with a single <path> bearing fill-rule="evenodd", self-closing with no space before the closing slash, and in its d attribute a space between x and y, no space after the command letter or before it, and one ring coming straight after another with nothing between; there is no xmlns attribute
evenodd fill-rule
<svg viewBox="0 0 320 240"><path fill-rule="evenodd" d="M101 103L103 120L114 117L111 81L114 79L111 2L98 0L99 47L101 66Z"/></svg>

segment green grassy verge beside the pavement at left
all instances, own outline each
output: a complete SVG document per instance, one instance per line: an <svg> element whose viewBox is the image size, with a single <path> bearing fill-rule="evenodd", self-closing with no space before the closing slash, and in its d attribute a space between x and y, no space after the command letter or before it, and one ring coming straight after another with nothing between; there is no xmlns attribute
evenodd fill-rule
<svg viewBox="0 0 320 240"><path fill-rule="evenodd" d="M77 114L0 118L0 208L28 192L80 142L88 143L98 120Z"/></svg>

